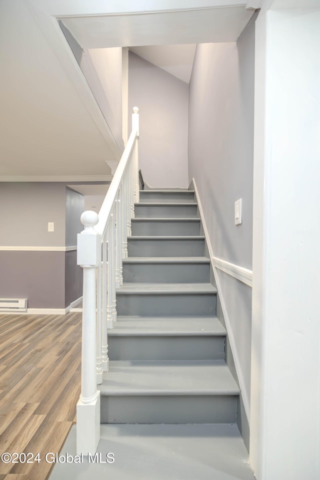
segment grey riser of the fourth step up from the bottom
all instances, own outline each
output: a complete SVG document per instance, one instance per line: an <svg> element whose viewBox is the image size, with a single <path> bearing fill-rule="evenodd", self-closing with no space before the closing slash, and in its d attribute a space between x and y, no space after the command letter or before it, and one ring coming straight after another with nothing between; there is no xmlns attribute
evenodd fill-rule
<svg viewBox="0 0 320 480"><path fill-rule="evenodd" d="M202 282L209 281L208 263L125 263L123 281L128 282Z"/></svg>

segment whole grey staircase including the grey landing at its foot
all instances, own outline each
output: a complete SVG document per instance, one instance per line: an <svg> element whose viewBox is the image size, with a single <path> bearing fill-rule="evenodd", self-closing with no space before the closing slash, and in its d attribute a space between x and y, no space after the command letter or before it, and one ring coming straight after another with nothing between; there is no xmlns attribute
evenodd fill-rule
<svg viewBox="0 0 320 480"><path fill-rule="evenodd" d="M139 198L98 385L100 463L56 464L50 480L254 480L194 191ZM64 451L76 452L75 427Z"/></svg>

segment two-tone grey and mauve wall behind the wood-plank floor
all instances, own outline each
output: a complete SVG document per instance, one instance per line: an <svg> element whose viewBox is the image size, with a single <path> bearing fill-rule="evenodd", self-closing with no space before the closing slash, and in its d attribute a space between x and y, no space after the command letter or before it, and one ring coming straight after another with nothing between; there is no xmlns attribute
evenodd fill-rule
<svg viewBox="0 0 320 480"><path fill-rule="evenodd" d="M1 182L0 207L2 247L73 246L83 229L83 195L62 182ZM0 297L28 298L29 308L64 308L81 292L75 250L0 251Z"/></svg>

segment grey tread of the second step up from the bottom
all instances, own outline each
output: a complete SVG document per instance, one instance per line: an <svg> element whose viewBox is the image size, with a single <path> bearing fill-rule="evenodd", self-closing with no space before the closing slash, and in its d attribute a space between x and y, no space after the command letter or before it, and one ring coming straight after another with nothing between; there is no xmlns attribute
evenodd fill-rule
<svg viewBox="0 0 320 480"><path fill-rule="evenodd" d="M212 317L143 317L118 316L109 336L225 336L216 316Z"/></svg>

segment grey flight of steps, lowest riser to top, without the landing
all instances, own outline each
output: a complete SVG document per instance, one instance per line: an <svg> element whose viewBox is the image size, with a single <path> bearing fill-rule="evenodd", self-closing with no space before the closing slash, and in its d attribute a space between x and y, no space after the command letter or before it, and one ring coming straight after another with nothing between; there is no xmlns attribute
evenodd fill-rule
<svg viewBox="0 0 320 480"><path fill-rule="evenodd" d="M224 361L194 191L140 191L131 225L101 422L234 423L239 390Z"/></svg>

